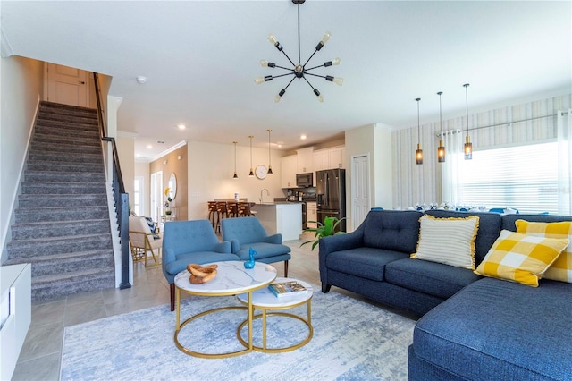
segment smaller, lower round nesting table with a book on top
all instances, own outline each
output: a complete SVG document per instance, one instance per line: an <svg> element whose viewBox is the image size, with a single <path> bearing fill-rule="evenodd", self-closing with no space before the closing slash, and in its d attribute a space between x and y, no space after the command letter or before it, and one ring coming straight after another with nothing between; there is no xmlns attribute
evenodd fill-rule
<svg viewBox="0 0 572 381"><path fill-rule="evenodd" d="M248 306L248 309L252 309L252 313L254 314L255 309L262 310L262 314L254 316L255 319L262 318L262 346L253 346L254 351L263 351L266 353L280 353L284 351L293 351L296 350L304 345L306 345L314 335L314 328L312 327L312 295L313 289L310 284L307 284L304 281L300 281L299 279L294 278L276 278L273 283L280 283L280 282L291 282L296 281L299 284L302 284L306 287L306 292L297 292L291 295L285 295L281 297L277 297L271 292L268 287L262 288L257 290L256 292L251 292L250 294L241 293L237 295L237 299ZM275 310L283 310L283 309L293 309L295 307L301 306L303 304L307 305L307 318L302 318L298 315L294 315L287 312L267 312L267 311L275 311ZM308 328L307 337L299 343L282 347L282 348L268 348L266 346L266 317L267 316L282 316L288 318L296 318L303 323L306 324ZM240 330L246 324L250 324L248 320L243 321L238 330L237 336L239 337L240 343L247 346L248 343L240 336ZM248 338L249 343L252 343L252 338Z"/></svg>

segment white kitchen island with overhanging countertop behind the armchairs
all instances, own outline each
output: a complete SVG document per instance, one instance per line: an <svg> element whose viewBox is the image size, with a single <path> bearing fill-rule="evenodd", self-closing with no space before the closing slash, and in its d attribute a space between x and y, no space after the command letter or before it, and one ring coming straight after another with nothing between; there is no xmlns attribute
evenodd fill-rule
<svg viewBox="0 0 572 381"><path fill-rule="evenodd" d="M298 240L302 233L302 204L297 202L267 202L251 207L266 230L282 234L282 241Z"/></svg>

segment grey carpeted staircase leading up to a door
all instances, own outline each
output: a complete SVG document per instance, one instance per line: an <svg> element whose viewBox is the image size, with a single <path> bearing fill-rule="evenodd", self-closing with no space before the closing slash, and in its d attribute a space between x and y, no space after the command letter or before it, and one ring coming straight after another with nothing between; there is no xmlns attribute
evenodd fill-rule
<svg viewBox="0 0 572 381"><path fill-rule="evenodd" d="M4 265L32 264L32 300L114 288L95 109L41 102Z"/></svg>

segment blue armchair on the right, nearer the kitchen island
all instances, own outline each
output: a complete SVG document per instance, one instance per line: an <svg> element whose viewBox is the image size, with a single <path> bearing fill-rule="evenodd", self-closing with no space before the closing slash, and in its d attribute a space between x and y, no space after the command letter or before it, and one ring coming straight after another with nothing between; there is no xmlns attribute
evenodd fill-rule
<svg viewBox="0 0 572 381"><path fill-rule="evenodd" d="M223 241L230 241L232 253L248 260L250 248L257 252L255 260L263 263L284 261L284 276L288 277L290 248L282 245L282 234L268 235L257 217L224 218L221 222Z"/></svg>

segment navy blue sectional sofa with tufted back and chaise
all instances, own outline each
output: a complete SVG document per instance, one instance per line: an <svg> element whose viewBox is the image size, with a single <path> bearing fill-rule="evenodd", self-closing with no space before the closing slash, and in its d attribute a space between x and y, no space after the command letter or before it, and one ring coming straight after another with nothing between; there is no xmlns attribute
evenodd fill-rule
<svg viewBox="0 0 572 381"><path fill-rule="evenodd" d="M572 216L429 210L434 217L479 216L475 266L515 221ZM322 292L357 292L420 316L408 349L410 380L572 380L572 284L539 287L475 275L467 268L409 258L417 211L371 211L356 231L320 240ZM447 232L443 232L443 240Z"/></svg>

